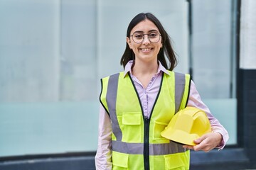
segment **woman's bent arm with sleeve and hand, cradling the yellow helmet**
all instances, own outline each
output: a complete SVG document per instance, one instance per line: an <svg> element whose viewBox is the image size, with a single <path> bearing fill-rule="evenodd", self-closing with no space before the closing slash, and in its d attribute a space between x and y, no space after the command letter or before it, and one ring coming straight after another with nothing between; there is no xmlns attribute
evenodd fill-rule
<svg viewBox="0 0 256 170"><path fill-rule="evenodd" d="M225 130L223 125L213 117L210 113L209 108L206 106L205 103L201 100L198 91L196 90L196 85L191 81L191 88L190 94L188 98L187 106L193 106L196 108L200 108L201 110L205 111L208 119L210 120L210 125L212 128L212 132L203 135L202 137L198 138L194 142L198 145L191 147L191 146L184 146L188 149L194 149L196 151L203 150L205 152L209 152L211 149L218 147L219 149L223 149L225 147L225 143L228 141L228 132Z"/></svg>

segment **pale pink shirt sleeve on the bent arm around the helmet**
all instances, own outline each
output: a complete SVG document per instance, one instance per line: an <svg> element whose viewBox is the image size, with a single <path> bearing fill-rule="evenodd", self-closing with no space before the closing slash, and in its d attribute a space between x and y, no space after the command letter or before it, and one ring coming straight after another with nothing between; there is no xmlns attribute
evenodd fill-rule
<svg viewBox="0 0 256 170"><path fill-rule="evenodd" d="M194 84L193 81L191 81L190 94L188 97L187 106L193 106L193 107L199 108L207 114L208 119L210 121L211 128L212 128L212 132L218 132L223 137L222 142L220 142L220 145L218 145L217 148L223 149L223 147L225 147L225 144L229 138L228 131L225 130L223 125L221 125L220 122L210 113L208 106L206 106L206 104L203 103L203 101L201 100L201 96L196 90L196 85Z"/></svg>

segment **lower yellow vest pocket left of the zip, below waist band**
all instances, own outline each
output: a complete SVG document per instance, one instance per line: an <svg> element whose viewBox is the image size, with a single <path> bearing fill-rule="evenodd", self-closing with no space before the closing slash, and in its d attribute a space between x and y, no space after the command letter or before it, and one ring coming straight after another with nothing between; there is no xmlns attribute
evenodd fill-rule
<svg viewBox="0 0 256 170"><path fill-rule="evenodd" d="M112 169L128 169L129 154L112 152Z"/></svg>

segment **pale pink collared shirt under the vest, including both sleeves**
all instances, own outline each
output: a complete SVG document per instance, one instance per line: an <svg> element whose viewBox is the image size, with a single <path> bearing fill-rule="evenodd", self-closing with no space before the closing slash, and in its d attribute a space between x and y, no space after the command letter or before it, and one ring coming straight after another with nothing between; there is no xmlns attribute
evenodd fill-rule
<svg viewBox="0 0 256 170"><path fill-rule="evenodd" d="M134 81L134 85L138 91L139 98L142 102L142 108L144 115L149 117L151 113L151 109L154 105L154 101L156 99L156 95L160 88L161 83L161 72L169 74L169 72L161 65L159 62L158 72L151 78L146 89L142 86L142 83L132 75L132 61L128 62L124 69L124 75L131 74L132 80ZM201 97L196 90L196 86L191 81L190 94L188 97L187 106L193 106L196 108L200 108L205 111L210 120L210 125L212 127L213 132L219 132L223 136L223 141L221 142L219 149L223 149L225 143L228 141L228 132L223 128L223 125L219 123L219 121L213 117L210 113L209 108L201 101ZM98 129L98 146L97 146L97 154L95 156L95 165L96 169L112 169L112 145L111 145L111 137L112 137L112 125L110 121L110 116L105 111L103 106L100 106L100 116L99 116L99 129Z"/></svg>

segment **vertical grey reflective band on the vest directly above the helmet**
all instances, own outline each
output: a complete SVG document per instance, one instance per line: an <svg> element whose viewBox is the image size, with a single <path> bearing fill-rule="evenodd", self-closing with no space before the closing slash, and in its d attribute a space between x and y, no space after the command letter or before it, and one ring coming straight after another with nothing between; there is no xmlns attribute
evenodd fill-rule
<svg viewBox="0 0 256 170"><path fill-rule="evenodd" d="M174 73L175 74L175 113L179 111L181 106L181 101L183 98L186 77L185 74Z"/></svg>

